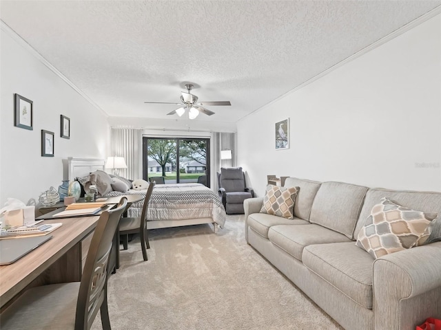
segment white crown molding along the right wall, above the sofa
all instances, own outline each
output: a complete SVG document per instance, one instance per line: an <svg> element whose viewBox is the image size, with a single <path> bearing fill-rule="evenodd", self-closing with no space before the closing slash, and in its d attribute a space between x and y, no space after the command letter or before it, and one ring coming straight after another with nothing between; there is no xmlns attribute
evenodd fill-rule
<svg viewBox="0 0 441 330"><path fill-rule="evenodd" d="M396 38L397 36L400 36L401 34L404 34L405 32L412 30L413 28L420 25L421 23L424 23L425 21L429 21L429 19L432 19L433 17L437 16L438 14L441 14L441 5L438 5L438 7L427 12L426 14L423 14L420 17L417 17L413 21L410 21L406 25L403 25L401 28L398 28L397 30L387 34L387 36L384 36L381 39L378 39L378 41L371 43L371 45L368 45L367 47L356 52L355 54L352 54L351 56L345 58L344 60L340 61L339 63L329 67L325 71L320 72L320 74L317 74L316 76L310 78L309 80L305 81L305 83L298 85L294 89L291 89L290 91L287 91L285 94L278 96L278 98L275 98L274 100L268 102L267 104L263 105L262 107L252 111L251 113L248 113L247 115L243 116L243 118L240 118L237 122L244 120L245 118L247 118L249 115L252 115L253 113L257 113L258 111L261 111L261 110L265 109L266 107L269 107L271 104L274 104L274 103L278 102L279 100L295 93L299 89L302 89L303 87L305 87L311 83L314 83L314 81L322 78L323 76L326 76L330 72L333 72L335 69L338 69L339 67L342 67L343 65L355 60L356 58L359 58L360 56L367 54L368 52L371 52L371 50L375 50L376 48L380 47L381 45L384 45L384 43L387 43L388 41L391 41L392 39Z"/></svg>

